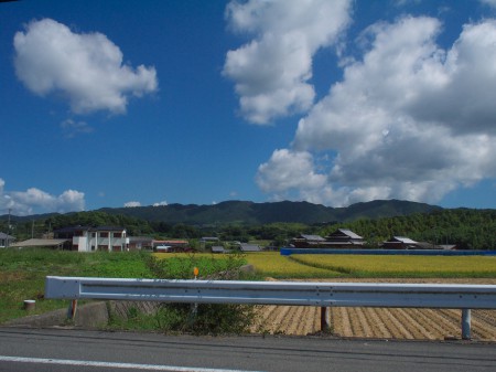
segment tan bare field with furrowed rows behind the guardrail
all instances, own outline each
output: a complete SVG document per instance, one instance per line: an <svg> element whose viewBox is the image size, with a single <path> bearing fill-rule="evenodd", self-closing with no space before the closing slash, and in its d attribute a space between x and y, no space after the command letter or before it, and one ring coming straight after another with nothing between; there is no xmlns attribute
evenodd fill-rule
<svg viewBox="0 0 496 372"><path fill-rule="evenodd" d="M494 279L341 281L496 284ZM330 310L331 332L339 337L443 340L460 339L462 332L462 311L459 309L333 307ZM305 336L320 331L320 307L261 306L258 312L258 323L252 329L255 332ZM496 310L472 310L471 337L474 340L496 341Z"/></svg>

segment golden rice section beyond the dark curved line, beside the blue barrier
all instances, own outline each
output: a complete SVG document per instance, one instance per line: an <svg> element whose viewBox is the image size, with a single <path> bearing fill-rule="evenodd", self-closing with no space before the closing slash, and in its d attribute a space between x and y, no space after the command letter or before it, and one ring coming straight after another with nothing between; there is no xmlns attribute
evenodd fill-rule
<svg viewBox="0 0 496 372"><path fill-rule="evenodd" d="M496 257L397 255L292 255L311 267L359 277L496 277Z"/></svg>

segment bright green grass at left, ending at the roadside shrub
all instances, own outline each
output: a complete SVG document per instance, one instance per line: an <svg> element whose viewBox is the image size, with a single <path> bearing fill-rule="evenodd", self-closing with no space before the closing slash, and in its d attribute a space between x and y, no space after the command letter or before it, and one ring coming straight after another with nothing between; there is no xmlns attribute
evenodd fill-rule
<svg viewBox="0 0 496 372"><path fill-rule="evenodd" d="M36 300L33 315L67 307L67 301L44 299L45 277L48 275L153 278L139 253L2 248L0 323L25 316L25 299Z"/></svg>

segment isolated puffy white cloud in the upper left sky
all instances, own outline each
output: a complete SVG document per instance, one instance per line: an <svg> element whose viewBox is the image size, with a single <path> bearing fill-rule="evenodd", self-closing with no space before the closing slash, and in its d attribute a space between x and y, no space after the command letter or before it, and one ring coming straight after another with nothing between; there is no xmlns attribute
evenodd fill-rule
<svg viewBox="0 0 496 372"><path fill-rule="evenodd" d="M122 64L106 35L75 33L52 19L30 22L13 40L15 73L33 93L64 96L76 114L126 111L129 96L157 91L154 67Z"/></svg>

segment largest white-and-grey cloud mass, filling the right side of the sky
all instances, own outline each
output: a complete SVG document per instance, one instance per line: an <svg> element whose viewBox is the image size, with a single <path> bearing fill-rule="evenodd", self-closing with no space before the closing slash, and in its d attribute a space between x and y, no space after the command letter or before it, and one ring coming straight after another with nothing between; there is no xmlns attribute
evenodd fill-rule
<svg viewBox="0 0 496 372"><path fill-rule="evenodd" d="M277 150L260 167L262 190L295 190L336 206L438 202L496 177L496 21L466 24L448 50L436 44L441 32L440 21L422 17L368 28L363 57L300 120L284 157ZM277 173L301 167L301 153L300 181ZM323 153L325 166L313 164ZM315 187L305 178L325 181Z"/></svg>

